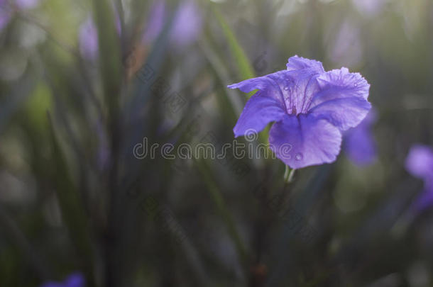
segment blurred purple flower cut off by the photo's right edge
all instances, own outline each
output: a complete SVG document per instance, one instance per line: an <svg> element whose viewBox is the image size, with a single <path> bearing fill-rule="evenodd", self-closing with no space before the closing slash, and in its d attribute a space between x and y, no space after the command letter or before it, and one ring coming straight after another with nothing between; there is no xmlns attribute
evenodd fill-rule
<svg viewBox="0 0 433 287"><path fill-rule="evenodd" d="M426 145L414 145L406 158L406 169L424 181L424 191L415 201L415 208L423 210L433 203L433 149Z"/></svg>

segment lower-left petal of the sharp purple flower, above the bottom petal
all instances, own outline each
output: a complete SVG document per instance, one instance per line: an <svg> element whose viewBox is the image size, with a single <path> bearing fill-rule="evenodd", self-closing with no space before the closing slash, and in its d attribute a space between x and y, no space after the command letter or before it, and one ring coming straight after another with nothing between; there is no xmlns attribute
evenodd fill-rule
<svg viewBox="0 0 433 287"><path fill-rule="evenodd" d="M270 122L281 120L285 116L285 108L279 101L263 96L263 91L251 96L243 108L241 116L233 132L235 137L258 133Z"/></svg>

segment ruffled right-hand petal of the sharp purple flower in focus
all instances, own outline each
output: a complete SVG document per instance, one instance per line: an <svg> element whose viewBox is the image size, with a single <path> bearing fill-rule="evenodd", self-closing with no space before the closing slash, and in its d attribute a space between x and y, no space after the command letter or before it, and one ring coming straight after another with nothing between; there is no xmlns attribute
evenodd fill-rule
<svg viewBox="0 0 433 287"><path fill-rule="evenodd" d="M371 108L367 101L370 85L358 73L341 68L317 77L320 91L314 95L309 113L347 130L366 117Z"/></svg>

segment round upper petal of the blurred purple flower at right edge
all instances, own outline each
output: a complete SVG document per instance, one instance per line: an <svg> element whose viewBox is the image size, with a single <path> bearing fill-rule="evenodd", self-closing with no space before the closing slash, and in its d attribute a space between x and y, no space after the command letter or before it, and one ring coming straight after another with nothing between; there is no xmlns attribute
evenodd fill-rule
<svg viewBox="0 0 433 287"><path fill-rule="evenodd" d="M412 146L405 167L413 176L433 181L433 149L426 145Z"/></svg>

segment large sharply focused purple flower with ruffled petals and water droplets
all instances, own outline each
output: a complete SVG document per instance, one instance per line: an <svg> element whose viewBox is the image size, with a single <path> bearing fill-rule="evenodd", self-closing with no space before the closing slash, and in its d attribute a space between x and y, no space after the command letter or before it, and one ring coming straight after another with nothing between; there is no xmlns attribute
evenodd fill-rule
<svg viewBox="0 0 433 287"><path fill-rule="evenodd" d="M243 92L258 89L246 103L235 137L257 133L270 122L270 149L285 164L299 169L334 162L341 132L366 117L370 85L346 68L325 72L321 62L291 57L287 70L228 86Z"/></svg>

